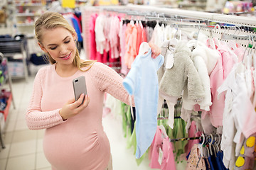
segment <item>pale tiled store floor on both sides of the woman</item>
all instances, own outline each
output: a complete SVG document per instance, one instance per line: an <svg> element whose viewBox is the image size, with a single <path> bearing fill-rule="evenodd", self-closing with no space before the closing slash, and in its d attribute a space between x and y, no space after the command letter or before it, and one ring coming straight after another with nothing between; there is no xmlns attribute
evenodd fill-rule
<svg viewBox="0 0 256 170"><path fill-rule="evenodd" d="M11 105L4 132L5 149L0 151L0 170L50 170L50 164L43 154L44 130L28 130L25 122L26 109L32 93L34 76L13 80L14 105ZM8 87L8 86L6 86ZM127 149L122 124L111 114L103 118L105 132L110 140L114 170L144 170L149 160L137 166L134 149ZM70 155L72 157L72 155Z"/></svg>

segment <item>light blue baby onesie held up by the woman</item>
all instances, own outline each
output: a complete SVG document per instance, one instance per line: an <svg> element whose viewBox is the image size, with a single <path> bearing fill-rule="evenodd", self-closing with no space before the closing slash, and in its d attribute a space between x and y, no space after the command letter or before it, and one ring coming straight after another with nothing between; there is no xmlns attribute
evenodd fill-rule
<svg viewBox="0 0 256 170"><path fill-rule="evenodd" d="M134 95L136 108L136 158L142 157L154 139L157 128L157 106L159 82L157 70L164 63L164 57L151 57L151 49L145 55L137 55L123 85Z"/></svg>

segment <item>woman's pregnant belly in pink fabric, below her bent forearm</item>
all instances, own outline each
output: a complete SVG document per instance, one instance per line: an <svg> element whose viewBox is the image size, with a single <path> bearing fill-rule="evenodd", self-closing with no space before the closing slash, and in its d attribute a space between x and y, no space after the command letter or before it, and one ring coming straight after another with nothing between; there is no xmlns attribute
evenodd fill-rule
<svg viewBox="0 0 256 170"><path fill-rule="evenodd" d="M105 132L56 132L46 130L43 139L46 159L56 170L105 169L110 159L110 143Z"/></svg>

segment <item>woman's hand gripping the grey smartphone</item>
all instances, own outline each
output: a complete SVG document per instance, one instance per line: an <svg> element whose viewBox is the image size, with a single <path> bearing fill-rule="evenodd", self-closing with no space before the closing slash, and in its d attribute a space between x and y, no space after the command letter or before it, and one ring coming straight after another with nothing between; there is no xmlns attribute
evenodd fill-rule
<svg viewBox="0 0 256 170"><path fill-rule="evenodd" d="M84 96L85 101L82 103L82 98ZM67 120L68 118L78 115L80 111L84 110L88 106L89 102L90 97L88 95L81 94L78 101L75 101L75 98L73 98L65 103L63 108L60 109L60 116L63 118L63 120Z"/></svg>

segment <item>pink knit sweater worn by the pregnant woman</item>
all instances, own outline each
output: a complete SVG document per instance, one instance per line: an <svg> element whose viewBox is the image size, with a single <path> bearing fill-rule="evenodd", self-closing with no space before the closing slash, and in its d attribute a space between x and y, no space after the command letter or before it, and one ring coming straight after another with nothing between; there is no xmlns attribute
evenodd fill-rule
<svg viewBox="0 0 256 170"><path fill-rule="evenodd" d="M86 68L85 68L86 69ZM90 103L78 115L63 121L60 108L74 98L72 81L85 76ZM43 151L58 170L105 169L110 160L110 143L102 127L104 92L129 104L122 77L105 64L96 62L87 72L60 77L55 64L36 74L26 123L31 130L46 129Z"/></svg>

